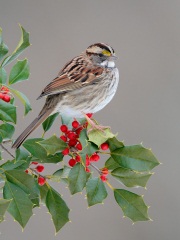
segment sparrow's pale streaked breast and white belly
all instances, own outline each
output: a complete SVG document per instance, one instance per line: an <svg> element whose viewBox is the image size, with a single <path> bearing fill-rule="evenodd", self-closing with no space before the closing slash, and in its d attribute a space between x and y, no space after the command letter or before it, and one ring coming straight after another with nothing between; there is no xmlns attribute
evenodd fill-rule
<svg viewBox="0 0 180 240"><path fill-rule="evenodd" d="M97 84L91 84L64 94L62 101L56 106L54 112L69 117L82 118L83 113L100 111L112 100L117 90L118 69L113 69L111 74L113 75L111 80L104 79Z"/></svg>

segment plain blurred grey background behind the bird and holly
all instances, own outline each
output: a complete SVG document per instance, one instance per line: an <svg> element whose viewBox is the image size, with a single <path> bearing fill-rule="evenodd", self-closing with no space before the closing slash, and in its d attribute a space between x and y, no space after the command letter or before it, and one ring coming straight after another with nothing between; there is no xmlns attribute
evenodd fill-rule
<svg viewBox="0 0 180 240"><path fill-rule="evenodd" d="M38 114L44 100L36 97L60 68L88 45L102 41L119 56L120 85L113 101L95 117L118 131L127 145L143 141L163 164L155 169L147 190L133 189L145 195L153 222L132 225L123 219L111 191L103 205L87 210L84 193L71 197L64 185L57 185L72 209L72 223L55 236L50 215L41 207L22 232L7 214L0 239L179 239L180 1L0 0L0 25L11 50L20 37L18 23L30 31L32 46L24 54L31 66L30 81L17 88L28 96L33 112L23 118L17 101L16 136ZM51 133L59 134L59 125L56 122ZM39 128L32 137L41 133Z"/></svg>

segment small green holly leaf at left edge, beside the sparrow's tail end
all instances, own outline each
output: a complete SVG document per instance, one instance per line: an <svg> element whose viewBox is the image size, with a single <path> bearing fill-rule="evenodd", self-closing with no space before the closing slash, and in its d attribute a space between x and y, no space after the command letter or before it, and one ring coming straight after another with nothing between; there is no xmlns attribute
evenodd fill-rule
<svg viewBox="0 0 180 240"><path fill-rule="evenodd" d="M0 142L2 140L9 140L11 139L12 135L14 134L15 128L13 125L9 123L3 123L0 125Z"/></svg>

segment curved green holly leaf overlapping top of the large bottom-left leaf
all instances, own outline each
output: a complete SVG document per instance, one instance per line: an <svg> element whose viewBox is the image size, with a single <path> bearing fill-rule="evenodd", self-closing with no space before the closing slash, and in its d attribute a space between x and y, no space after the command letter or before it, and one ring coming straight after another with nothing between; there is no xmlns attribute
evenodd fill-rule
<svg viewBox="0 0 180 240"><path fill-rule="evenodd" d="M35 206L39 206L39 187L33 176L21 170L5 171L5 175L9 182L28 194L29 199Z"/></svg>

